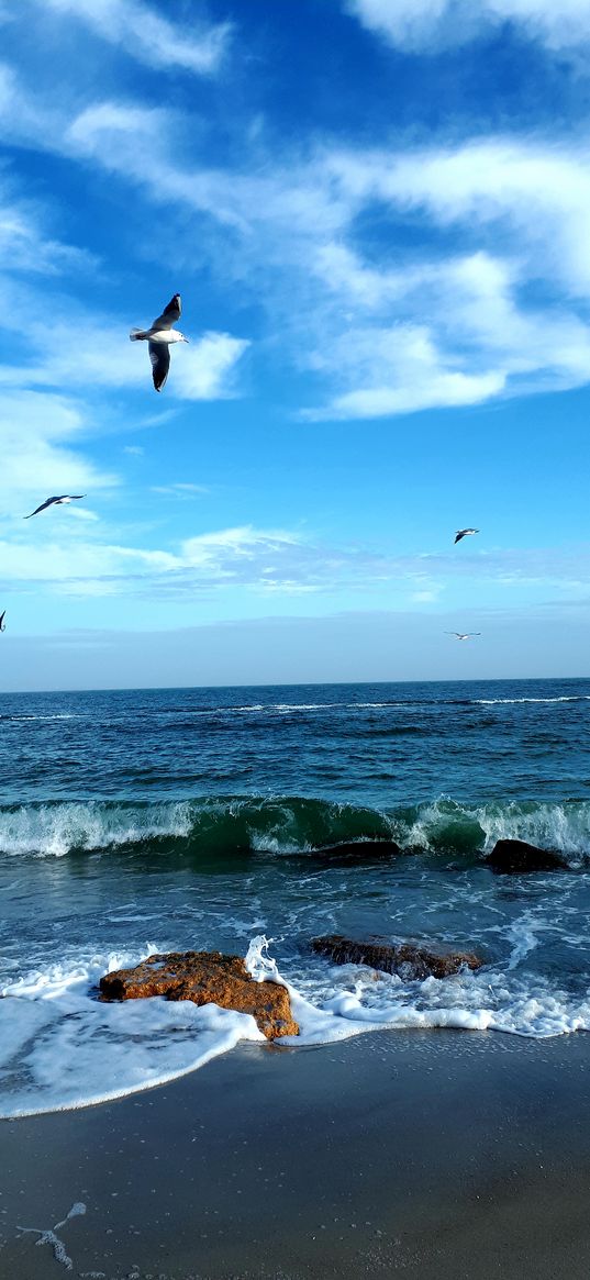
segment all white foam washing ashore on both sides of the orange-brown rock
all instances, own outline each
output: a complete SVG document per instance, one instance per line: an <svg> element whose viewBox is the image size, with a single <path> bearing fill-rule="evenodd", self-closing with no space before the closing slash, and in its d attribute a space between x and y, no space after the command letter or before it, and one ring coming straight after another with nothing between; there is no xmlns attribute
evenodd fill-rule
<svg viewBox="0 0 590 1280"><path fill-rule="evenodd" d="M447 1027L546 1038L590 1030L590 998L573 997L526 973L535 922L514 928L508 970L484 968L452 978L406 982L360 965L314 956L294 982L251 941L250 972L283 983L301 1034L292 1046L331 1043L369 1030ZM163 1084L197 1070L238 1041L264 1042L255 1019L161 997L122 1004L96 1000L108 969L159 950L81 957L8 983L0 1000L0 1117L69 1110Z"/></svg>

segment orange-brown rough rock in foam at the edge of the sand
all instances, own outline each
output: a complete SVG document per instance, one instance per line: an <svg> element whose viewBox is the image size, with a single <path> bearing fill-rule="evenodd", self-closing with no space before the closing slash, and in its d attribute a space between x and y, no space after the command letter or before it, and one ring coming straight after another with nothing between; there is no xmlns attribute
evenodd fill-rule
<svg viewBox="0 0 590 1280"><path fill-rule="evenodd" d="M165 996L195 1005L220 1005L252 1014L267 1039L298 1036L289 993L275 982L255 982L241 956L220 951L169 951L152 955L134 969L118 969L100 979L101 1000Z"/></svg>

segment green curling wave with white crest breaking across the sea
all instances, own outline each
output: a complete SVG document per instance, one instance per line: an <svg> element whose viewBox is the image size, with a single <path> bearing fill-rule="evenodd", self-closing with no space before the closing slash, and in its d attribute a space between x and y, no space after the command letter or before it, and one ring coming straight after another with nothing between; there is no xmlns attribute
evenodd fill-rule
<svg viewBox="0 0 590 1280"><path fill-rule="evenodd" d="M497 840L526 840L572 860L590 856L590 800L497 800L440 796L371 809L301 796L203 796L191 800L55 800L0 806L0 854L191 855L312 854L328 846L395 841L403 849L477 856Z"/></svg>

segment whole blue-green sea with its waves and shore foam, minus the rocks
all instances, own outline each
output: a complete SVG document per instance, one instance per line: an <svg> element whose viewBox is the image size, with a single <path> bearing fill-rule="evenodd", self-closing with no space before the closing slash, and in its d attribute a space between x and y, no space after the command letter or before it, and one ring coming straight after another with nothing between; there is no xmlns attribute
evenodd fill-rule
<svg viewBox="0 0 590 1280"><path fill-rule="evenodd" d="M155 951L237 954L285 983L292 1048L590 1029L590 680L8 694L0 726L1 1117L267 1051L246 1014L97 998ZM503 837L567 868L499 876ZM403 854L363 850L381 838ZM339 966L311 950L326 933L484 965Z"/></svg>

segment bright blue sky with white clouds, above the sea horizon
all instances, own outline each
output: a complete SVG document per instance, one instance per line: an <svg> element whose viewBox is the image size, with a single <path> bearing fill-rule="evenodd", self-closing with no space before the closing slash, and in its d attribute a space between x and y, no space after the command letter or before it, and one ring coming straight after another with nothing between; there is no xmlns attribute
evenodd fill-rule
<svg viewBox="0 0 590 1280"><path fill-rule="evenodd" d="M0 689L590 675L590 0L0 36Z"/></svg>

